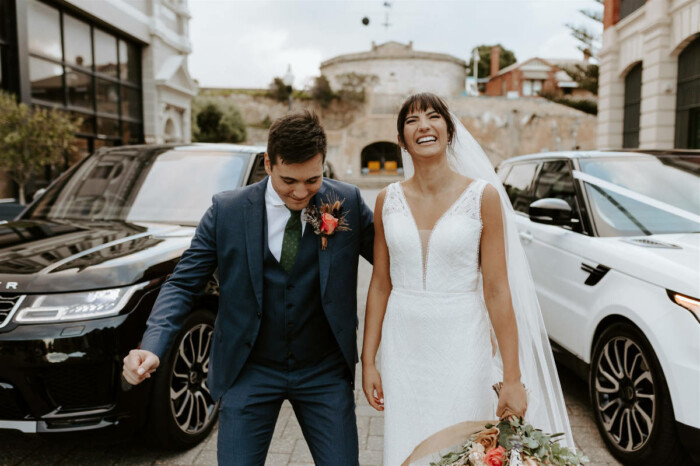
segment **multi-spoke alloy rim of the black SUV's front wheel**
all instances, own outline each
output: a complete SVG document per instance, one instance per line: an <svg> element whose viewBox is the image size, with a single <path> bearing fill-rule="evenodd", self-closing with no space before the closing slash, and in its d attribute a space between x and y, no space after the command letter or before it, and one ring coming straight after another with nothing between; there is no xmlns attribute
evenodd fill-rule
<svg viewBox="0 0 700 466"><path fill-rule="evenodd" d="M170 377L170 409L180 430L197 434L211 424L218 402L207 387L214 328L198 324L180 341Z"/></svg>

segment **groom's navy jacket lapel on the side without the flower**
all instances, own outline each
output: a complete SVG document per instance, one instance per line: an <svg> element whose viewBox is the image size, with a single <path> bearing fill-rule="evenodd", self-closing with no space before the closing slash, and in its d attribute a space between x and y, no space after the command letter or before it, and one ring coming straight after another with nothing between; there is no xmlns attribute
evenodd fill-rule
<svg viewBox="0 0 700 466"><path fill-rule="evenodd" d="M245 239L248 267L253 291L260 309L263 306L263 260L265 257L264 215L267 178L255 184L248 194L245 206Z"/></svg>

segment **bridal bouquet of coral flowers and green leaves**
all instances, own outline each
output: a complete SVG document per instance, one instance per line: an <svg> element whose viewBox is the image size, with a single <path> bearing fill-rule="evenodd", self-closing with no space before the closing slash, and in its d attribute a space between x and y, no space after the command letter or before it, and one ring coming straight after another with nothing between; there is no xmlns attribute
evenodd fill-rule
<svg viewBox="0 0 700 466"><path fill-rule="evenodd" d="M469 437L466 443L442 456L431 466L538 466L579 465L588 458L556 440L564 434L549 435L522 419L509 417L498 424L487 424Z"/></svg>

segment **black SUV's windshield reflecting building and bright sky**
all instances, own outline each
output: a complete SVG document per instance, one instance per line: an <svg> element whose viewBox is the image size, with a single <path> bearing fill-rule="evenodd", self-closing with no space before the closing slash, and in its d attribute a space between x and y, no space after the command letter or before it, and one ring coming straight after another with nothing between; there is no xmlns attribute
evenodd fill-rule
<svg viewBox="0 0 700 466"><path fill-rule="evenodd" d="M86 159L25 218L196 225L214 194L241 185L249 160L224 151L111 150Z"/></svg>

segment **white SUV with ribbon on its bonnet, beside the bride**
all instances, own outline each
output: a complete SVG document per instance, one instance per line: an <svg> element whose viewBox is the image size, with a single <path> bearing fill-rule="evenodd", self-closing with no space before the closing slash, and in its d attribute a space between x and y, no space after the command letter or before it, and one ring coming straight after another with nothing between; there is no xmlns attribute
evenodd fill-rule
<svg viewBox="0 0 700 466"><path fill-rule="evenodd" d="M542 153L498 173L555 355L589 381L611 452L700 461L700 151Z"/></svg>

